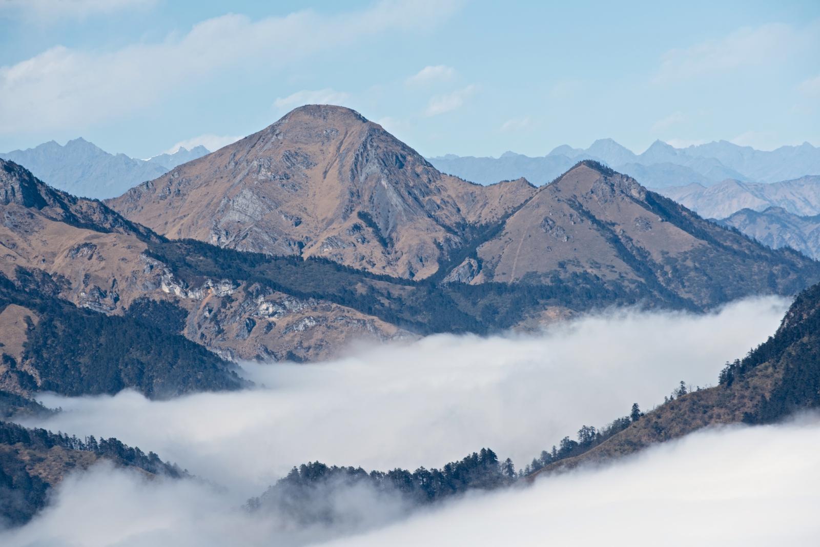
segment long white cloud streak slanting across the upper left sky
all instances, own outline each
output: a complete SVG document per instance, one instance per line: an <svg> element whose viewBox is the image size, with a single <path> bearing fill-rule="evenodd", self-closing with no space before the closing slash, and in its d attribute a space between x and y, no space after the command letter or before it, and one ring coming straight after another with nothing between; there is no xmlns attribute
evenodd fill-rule
<svg viewBox="0 0 820 547"><path fill-rule="evenodd" d="M202 21L181 37L171 34L162 42L113 52L56 46L0 66L0 134L111 120L226 67L275 70L328 48L430 25L460 3L385 0L360 11L298 11L259 21L225 15Z"/></svg>

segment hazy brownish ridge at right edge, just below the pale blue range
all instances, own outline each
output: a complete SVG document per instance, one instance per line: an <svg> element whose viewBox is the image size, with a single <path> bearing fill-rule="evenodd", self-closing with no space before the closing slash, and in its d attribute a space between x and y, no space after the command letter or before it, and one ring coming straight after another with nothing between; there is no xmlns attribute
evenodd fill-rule
<svg viewBox="0 0 820 547"><path fill-rule="evenodd" d="M768 207L782 207L803 217L820 214L818 175L768 184L724 180L708 188L695 184L661 188L658 192L707 218L726 218L741 209L763 211Z"/></svg>

